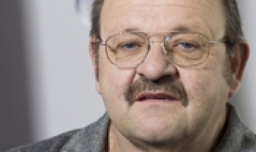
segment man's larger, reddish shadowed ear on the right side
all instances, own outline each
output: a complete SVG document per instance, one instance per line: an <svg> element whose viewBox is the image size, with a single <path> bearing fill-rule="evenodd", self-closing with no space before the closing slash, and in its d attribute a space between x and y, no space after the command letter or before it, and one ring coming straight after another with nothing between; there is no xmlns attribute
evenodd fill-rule
<svg viewBox="0 0 256 152"><path fill-rule="evenodd" d="M245 40L237 44L234 49L231 56L232 84L230 84L229 98L236 94L240 88L244 69L250 55L250 48Z"/></svg>

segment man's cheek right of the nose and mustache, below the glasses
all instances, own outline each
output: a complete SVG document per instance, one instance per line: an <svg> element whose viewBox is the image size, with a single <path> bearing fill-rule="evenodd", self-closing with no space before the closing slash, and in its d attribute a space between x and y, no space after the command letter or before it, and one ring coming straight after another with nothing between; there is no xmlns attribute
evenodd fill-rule
<svg viewBox="0 0 256 152"><path fill-rule="evenodd" d="M191 100L202 98L208 100L220 98L227 91L224 73L226 58L222 49L213 49L205 64L191 69L181 69L181 77ZM209 101L210 102L210 101Z"/></svg>

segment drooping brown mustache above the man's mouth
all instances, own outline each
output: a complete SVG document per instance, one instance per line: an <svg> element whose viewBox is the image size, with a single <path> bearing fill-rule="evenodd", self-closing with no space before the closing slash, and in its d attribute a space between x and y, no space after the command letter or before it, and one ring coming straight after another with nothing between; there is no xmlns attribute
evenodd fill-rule
<svg viewBox="0 0 256 152"><path fill-rule="evenodd" d="M141 76L133 82L124 92L124 98L131 106L142 92L161 91L169 93L177 100L181 101L183 106L188 105L188 93L177 76L165 75L156 80L151 80L145 76Z"/></svg>

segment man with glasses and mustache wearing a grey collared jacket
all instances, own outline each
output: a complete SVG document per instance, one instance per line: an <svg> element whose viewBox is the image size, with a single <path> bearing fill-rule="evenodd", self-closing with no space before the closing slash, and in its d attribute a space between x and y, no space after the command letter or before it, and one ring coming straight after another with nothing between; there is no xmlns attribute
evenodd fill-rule
<svg viewBox="0 0 256 152"><path fill-rule="evenodd" d="M235 0L95 0L89 51L107 113L11 151L256 151L227 103L249 57Z"/></svg>

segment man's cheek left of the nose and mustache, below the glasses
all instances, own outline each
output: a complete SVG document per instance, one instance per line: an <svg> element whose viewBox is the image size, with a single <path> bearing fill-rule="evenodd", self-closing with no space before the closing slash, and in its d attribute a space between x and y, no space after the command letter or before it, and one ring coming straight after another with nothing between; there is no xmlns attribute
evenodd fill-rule
<svg viewBox="0 0 256 152"><path fill-rule="evenodd" d="M135 70L121 70L112 65L105 52L99 54L99 82L106 108L126 108L124 91L132 83ZM125 104L124 104L125 103ZM121 109L123 109L121 108ZM111 110L108 110L111 111Z"/></svg>

